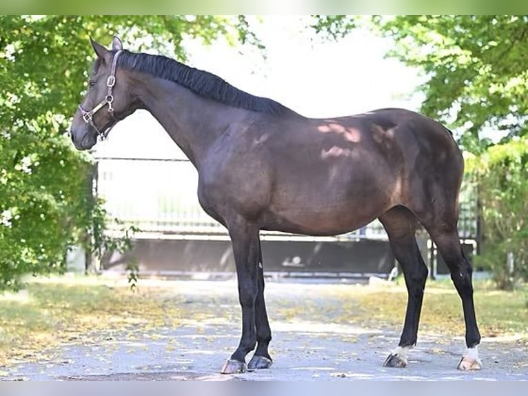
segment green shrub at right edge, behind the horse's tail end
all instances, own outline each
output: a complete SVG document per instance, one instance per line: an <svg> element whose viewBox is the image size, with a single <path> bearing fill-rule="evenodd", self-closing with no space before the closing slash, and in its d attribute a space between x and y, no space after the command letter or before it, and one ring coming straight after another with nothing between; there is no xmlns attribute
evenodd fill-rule
<svg viewBox="0 0 528 396"><path fill-rule="evenodd" d="M528 280L528 138L492 146L467 165L479 186L486 230L477 259L499 288L511 289L516 280Z"/></svg>

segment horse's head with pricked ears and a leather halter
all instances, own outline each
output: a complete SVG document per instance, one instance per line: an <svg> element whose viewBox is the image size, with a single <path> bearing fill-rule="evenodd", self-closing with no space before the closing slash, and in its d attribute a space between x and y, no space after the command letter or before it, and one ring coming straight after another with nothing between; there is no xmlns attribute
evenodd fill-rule
<svg viewBox="0 0 528 396"><path fill-rule="evenodd" d="M78 150L88 150L97 143L97 138L105 139L110 129L129 115L131 99L128 95L128 81L125 73L117 70L117 60L123 51L121 40L114 37L112 50L93 41L97 54L88 91L74 115L71 136Z"/></svg>

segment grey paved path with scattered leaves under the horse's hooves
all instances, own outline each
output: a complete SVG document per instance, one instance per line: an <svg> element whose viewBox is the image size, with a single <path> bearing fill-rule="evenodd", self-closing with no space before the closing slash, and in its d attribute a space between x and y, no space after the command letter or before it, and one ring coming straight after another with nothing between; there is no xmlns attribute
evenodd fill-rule
<svg viewBox="0 0 528 396"><path fill-rule="evenodd" d="M455 367L464 349L462 339L420 333L407 368L384 368L381 363L396 346L398 332L332 324L332 317L341 309L339 302L329 297L329 290L335 287L268 281L266 296L274 334L270 347L274 365L269 370L218 374L238 344L240 314L234 281L172 281L163 283L154 298L171 304L177 295L183 306L181 326L148 331L130 328L119 333L109 329L92 335L89 343L72 340L50 350L48 359L3 368L1 378L528 380L528 351L515 339L483 339L480 355L484 369L461 373ZM301 298L309 300L309 309L303 309Z"/></svg>

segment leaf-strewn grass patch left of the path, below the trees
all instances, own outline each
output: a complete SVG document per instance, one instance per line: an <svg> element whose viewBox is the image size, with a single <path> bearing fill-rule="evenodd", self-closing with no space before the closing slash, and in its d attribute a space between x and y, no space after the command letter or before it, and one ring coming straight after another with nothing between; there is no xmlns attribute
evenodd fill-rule
<svg viewBox="0 0 528 396"><path fill-rule="evenodd" d="M140 326L175 326L177 305L97 279L32 282L16 295L0 295L0 366L39 359L57 344L93 341L101 330L111 337Z"/></svg>

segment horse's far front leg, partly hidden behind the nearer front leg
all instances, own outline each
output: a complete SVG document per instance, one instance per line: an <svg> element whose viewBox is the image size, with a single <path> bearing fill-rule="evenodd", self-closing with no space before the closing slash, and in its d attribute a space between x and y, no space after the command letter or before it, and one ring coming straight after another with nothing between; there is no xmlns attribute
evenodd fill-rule
<svg viewBox="0 0 528 396"><path fill-rule="evenodd" d="M262 264L262 248L258 244L258 292L255 300L255 326L256 326L256 350L247 365L250 370L258 368L269 368L272 365L272 357L267 347L272 340L272 330L267 321L266 305L264 301L264 270Z"/></svg>

